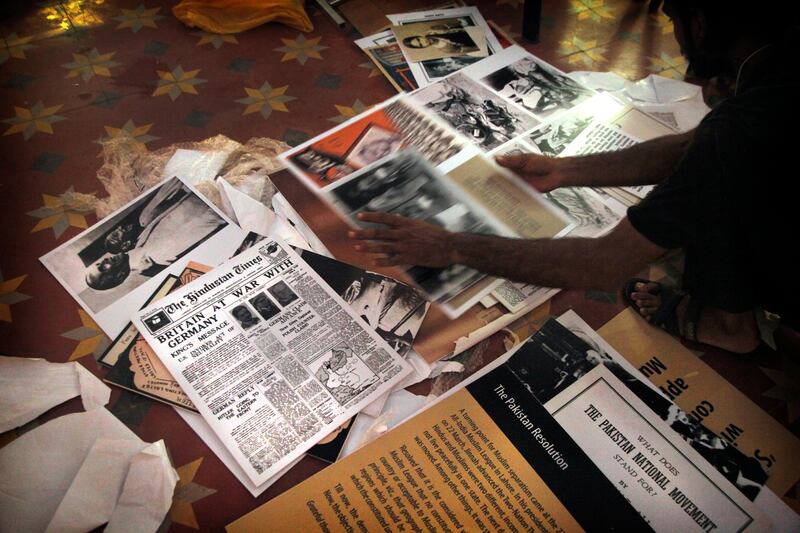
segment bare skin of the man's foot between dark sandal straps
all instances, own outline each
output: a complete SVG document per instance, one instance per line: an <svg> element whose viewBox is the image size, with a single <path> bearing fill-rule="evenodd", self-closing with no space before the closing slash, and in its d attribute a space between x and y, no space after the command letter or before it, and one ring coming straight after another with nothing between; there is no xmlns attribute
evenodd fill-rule
<svg viewBox="0 0 800 533"><path fill-rule="evenodd" d="M636 292L631 298L639 308L639 313L650 322L661 306L661 296L654 294L656 283L637 283ZM683 298L675 312L678 315L678 326L681 336L686 335L686 309L689 305L687 295ZM697 321L697 341L716 346L729 352L748 353L755 350L760 338L756 317L752 311L729 313L715 307L703 307Z"/></svg>

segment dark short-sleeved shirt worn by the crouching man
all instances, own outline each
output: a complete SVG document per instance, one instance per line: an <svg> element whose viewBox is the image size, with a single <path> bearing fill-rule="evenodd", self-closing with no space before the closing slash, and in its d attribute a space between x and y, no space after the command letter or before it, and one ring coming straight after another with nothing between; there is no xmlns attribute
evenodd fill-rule
<svg viewBox="0 0 800 533"><path fill-rule="evenodd" d="M795 328L796 50L759 52L738 94L698 125L676 171L628 209L648 240L685 249L684 290L693 298L732 313L762 307Z"/></svg>

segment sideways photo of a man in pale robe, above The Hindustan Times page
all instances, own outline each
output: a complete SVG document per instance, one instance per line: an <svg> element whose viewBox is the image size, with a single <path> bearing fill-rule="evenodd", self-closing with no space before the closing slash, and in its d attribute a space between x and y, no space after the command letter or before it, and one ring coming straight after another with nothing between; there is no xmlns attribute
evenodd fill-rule
<svg viewBox="0 0 800 533"><path fill-rule="evenodd" d="M103 320L104 312L115 316L116 304L148 281L163 279L184 257L208 264L218 253L206 247L203 257L193 254L207 241L227 255L233 250L227 251L226 233L239 238L242 232L188 185L171 178L41 260L95 321L116 336L116 323L121 329L129 316ZM146 297L143 293L141 301Z"/></svg>

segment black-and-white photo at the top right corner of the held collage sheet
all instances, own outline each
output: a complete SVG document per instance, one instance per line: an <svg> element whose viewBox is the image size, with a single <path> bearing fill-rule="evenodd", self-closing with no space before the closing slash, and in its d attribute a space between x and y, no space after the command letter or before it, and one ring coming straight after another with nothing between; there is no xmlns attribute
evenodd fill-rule
<svg viewBox="0 0 800 533"><path fill-rule="evenodd" d="M481 81L539 118L570 109L593 94L568 76L531 57L492 72Z"/></svg>

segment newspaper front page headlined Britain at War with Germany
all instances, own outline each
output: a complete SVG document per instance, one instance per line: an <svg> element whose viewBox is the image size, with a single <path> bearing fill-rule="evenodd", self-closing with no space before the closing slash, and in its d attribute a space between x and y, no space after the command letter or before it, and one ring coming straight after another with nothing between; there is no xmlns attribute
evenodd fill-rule
<svg viewBox="0 0 800 533"><path fill-rule="evenodd" d="M256 485L411 371L279 240L133 322Z"/></svg>

